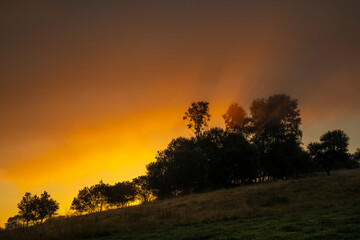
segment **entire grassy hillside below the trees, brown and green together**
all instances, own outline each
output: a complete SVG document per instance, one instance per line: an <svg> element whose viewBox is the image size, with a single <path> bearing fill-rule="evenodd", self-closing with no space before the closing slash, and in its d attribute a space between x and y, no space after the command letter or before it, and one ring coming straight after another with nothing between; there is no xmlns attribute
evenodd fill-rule
<svg viewBox="0 0 360 240"><path fill-rule="evenodd" d="M0 239L359 239L359 203L360 170L342 170L52 218Z"/></svg>

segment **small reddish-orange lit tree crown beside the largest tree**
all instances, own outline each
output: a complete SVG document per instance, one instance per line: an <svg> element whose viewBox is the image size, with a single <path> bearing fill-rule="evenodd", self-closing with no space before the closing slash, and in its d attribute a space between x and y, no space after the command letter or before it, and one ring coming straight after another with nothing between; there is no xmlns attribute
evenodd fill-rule
<svg viewBox="0 0 360 240"><path fill-rule="evenodd" d="M231 104L222 116L225 121L226 130L233 132L243 132L246 122L246 112L237 103Z"/></svg>

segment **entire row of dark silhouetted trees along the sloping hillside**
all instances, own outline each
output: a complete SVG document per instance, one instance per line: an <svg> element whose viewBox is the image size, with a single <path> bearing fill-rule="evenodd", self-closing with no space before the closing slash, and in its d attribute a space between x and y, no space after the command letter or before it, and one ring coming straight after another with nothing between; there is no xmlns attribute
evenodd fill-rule
<svg viewBox="0 0 360 240"><path fill-rule="evenodd" d="M209 102L192 103L183 120L194 136L173 139L146 166L145 175L114 185L100 181L84 187L70 209L78 214L101 212L156 198L299 177L314 171L330 175L334 169L359 167L360 149L349 153L349 137L342 130L328 131L319 142L304 148L298 102L288 95L255 99L249 113L234 103L222 117L224 129L208 129ZM7 228L53 216L58 203L44 194L39 198L26 193L18 204L19 214L9 218ZM41 202L42 198L46 200ZM43 205L47 207L40 210Z"/></svg>

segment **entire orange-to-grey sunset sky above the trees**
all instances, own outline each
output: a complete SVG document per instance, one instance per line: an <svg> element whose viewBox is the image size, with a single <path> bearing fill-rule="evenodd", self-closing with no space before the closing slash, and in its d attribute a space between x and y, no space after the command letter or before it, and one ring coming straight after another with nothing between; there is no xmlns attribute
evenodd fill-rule
<svg viewBox="0 0 360 240"><path fill-rule="evenodd" d="M360 2L0 1L0 224L25 192L67 214L79 189L145 173L209 101L298 99L304 146L360 147Z"/></svg>

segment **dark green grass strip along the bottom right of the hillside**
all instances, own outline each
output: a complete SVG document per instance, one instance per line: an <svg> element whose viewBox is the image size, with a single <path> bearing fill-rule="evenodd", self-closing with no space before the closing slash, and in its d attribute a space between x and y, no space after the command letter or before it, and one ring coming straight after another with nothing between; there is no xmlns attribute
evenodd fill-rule
<svg viewBox="0 0 360 240"><path fill-rule="evenodd" d="M96 240L360 239L360 204L128 232Z"/></svg>

